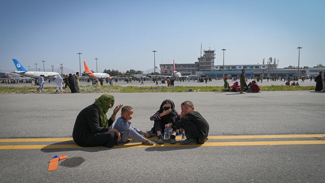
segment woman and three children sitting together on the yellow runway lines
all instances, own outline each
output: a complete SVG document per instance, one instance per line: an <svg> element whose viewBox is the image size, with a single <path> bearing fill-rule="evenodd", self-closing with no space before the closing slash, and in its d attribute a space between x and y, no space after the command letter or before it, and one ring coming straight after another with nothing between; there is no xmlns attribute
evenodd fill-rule
<svg viewBox="0 0 325 183"><path fill-rule="evenodd" d="M110 118L106 113L114 106L114 96L103 94L92 105L87 106L77 116L73 139L82 147L106 146L113 147L120 143L128 142L129 138L134 141L142 142L145 145L155 143L165 143L163 134L165 126L172 128L173 132L168 139L169 143L175 144L177 133L186 132L186 139L181 142L183 145L203 144L208 137L209 124L202 115L194 111L191 101L181 104L181 112L175 109L175 104L171 100L164 100L159 110L155 112L150 120L154 121L153 128L149 132L143 132L131 126L134 110L131 106L117 105ZM121 116L113 125L117 113L121 110ZM152 133L157 134L156 142L149 138Z"/></svg>

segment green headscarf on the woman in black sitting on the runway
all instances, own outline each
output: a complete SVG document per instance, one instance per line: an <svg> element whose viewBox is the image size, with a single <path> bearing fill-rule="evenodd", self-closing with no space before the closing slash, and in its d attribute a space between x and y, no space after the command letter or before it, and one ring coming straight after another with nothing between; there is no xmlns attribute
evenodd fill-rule
<svg viewBox="0 0 325 183"><path fill-rule="evenodd" d="M109 104L109 101L113 101L113 104ZM103 94L100 98L95 99L94 104L98 107L101 115L101 124L103 128L109 128L107 115L108 109L114 106L114 96L109 94Z"/></svg>

